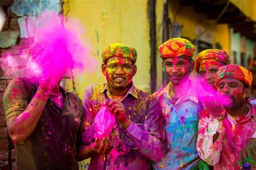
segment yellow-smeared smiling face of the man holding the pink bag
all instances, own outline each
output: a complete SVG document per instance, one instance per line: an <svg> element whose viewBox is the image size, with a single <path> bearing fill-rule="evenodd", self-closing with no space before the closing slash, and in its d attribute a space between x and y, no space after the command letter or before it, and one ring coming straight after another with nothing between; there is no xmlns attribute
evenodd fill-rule
<svg viewBox="0 0 256 170"><path fill-rule="evenodd" d="M102 72L106 76L110 88L130 88L132 77L136 74L137 67L126 58L112 57L102 64Z"/></svg>

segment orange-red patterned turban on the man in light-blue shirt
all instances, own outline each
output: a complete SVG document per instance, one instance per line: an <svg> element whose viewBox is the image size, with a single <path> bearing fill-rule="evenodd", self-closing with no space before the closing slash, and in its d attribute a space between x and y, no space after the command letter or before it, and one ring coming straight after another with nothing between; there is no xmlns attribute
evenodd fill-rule
<svg viewBox="0 0 256 170"><path fill-rule="evenodd" d="M171 38L158 47L161 58L176 57L186 55L192 57L194 55L194 46L190 41L184 38Z"/></svg>

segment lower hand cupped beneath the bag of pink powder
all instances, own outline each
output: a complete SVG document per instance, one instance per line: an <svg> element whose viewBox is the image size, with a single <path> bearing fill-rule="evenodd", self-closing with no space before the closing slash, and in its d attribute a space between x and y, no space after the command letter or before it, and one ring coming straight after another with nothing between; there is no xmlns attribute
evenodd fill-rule
<svg viewBox="0 0 256 170"><path fill-rule="evenodd" d="M110 142L110 139L107 139L106 137L103 137L100 141L99 145L99 139L96 138L94 143L91 143L90 149L92 152L96 152L98 154L104 155L105 153L109 152L112 148L112 143Z"/></svg>

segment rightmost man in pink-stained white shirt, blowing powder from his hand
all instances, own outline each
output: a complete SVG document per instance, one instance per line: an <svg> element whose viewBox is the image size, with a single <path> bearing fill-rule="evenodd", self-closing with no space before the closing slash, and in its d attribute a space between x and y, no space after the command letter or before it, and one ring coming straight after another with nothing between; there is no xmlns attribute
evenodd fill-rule
<svg viewBox="0 0 256 170"><path fill-rule="evenodd" d="M218 99L204 102L197 148L214 169L255 168L255 108L248 102L252 73L239 65L220 67L215 76Z"/></svg>

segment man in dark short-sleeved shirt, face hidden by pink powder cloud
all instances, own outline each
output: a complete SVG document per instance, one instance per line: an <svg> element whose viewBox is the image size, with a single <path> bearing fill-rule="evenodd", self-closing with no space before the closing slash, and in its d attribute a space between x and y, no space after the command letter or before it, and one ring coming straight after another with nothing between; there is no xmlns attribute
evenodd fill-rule
<svg viewBox="0 0 256 170"><path fill-rule="evenodd" d="M45 59L42 54L49 56L44 52L41 44L30 46L29 64ZM6 125L16 146L17 169L78 169L77 161L84 159L80 149L82 101L59 86L63 73L58 69L51 72L48 64L43 67L49 76L16 77L4 92Z"/></svg>

